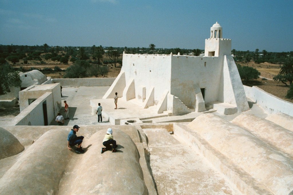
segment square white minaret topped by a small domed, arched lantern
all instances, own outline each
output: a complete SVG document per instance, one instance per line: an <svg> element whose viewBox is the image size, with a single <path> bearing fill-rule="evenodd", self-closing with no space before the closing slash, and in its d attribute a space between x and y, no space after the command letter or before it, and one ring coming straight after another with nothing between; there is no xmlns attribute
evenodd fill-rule
<svg viewBox="0 0 293 195"><path fill-rule="evenodd" d="M231 55L231 39L223 39L222 27L216 22L211 27L211 36L205 39L205 56Z"/></svg>

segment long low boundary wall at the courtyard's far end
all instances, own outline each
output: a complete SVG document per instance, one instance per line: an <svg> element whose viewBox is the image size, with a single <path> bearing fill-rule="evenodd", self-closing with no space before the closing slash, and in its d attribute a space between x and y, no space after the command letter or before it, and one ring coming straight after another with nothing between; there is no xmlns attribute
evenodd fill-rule
<svg viewBox="0 0 293 195"><path fill-rule="evenodd" d="M103 87L111 86L116 78L52 79L61 86Z"/></svg>

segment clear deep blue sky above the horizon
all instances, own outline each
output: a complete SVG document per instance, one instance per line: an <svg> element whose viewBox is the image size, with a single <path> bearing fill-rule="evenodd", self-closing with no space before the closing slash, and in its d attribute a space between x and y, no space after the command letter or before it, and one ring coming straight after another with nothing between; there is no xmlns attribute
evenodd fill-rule
<svg viewBox="0 0 293 195"><path fill-rule="evenodd" d="M293 0L0 0L0 44L293 51Z"/></svg>

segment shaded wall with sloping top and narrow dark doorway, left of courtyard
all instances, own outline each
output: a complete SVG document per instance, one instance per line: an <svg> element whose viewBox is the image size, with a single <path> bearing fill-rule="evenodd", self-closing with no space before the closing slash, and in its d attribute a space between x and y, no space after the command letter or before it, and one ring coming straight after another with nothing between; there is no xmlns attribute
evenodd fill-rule
<svg viewBox="0 0 293 195"><path fill-rule="evenodd" d="M33 103L31 103L28 107L26 107L23 111L21 111L21 113L13 118L13 120L11 120L11 122L7 125L45 125L43 114L43 102L45 101L47 107L48 123L50 123L55 117L52 99L52 93L45 93L36 99Z"/></svg>

